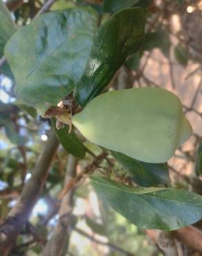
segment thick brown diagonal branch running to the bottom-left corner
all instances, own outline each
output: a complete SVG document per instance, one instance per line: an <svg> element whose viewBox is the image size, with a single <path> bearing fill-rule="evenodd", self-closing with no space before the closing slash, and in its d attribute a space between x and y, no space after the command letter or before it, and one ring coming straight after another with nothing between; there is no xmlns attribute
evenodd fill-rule
<svg viewBox="0 0 202 256"><path fill-rule="evenodd" d="M53 161L59 143L55 134L50 134L48 142L39 156L31 178L24 186L19 201L9 212L8 217L0 226L1 256L7 256L15 246L17 235L30 217L30 213L44 188L50 164Z"/></svg>

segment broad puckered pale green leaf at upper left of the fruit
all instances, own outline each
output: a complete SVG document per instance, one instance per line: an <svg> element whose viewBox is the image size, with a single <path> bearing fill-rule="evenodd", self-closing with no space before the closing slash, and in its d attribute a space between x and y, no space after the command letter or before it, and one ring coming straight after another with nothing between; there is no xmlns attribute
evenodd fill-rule
<svg viewBox="0 0 202 256"><path fill-rule="evenodd" d="M84 73L97 15L91 8L49 12L21 28L6 44L16 95L44 115L73 90Z"/></svg>

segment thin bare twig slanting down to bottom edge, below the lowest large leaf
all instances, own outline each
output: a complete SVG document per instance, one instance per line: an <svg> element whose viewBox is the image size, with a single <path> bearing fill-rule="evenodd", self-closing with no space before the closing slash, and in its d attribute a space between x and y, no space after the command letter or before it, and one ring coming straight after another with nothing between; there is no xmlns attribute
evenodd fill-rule
<svg viewBox="0 0 202 256"><path fill-rule="evenodd" d="M81 230L80 228L74 228L74 230L76 232L78 232L80 235L87 237L88 239L90 239L91 241L97 243L97 244L102 244L102 246L107 246L109 248L111 248L111 250L116 250L117 252L121 253L122 255L125 256L136 256L134 253L129 253L127 252L127 250L124 250L114 244L111 244L109 242L104 242L104 241L100 241L98 239L96 239L95 237L92 237L91 235L89 235L88 233L84 232L84 230Z"/></svg>

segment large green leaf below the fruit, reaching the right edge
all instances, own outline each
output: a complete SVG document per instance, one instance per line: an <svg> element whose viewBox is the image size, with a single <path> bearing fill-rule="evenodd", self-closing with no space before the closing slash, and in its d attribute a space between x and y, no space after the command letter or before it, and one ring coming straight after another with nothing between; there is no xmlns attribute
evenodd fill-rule
<svg viewBox="0 0 202 256"><path fill-rule="evenodd" d="M101 177L91 180L104 203L142 228L176 230L202 217L198 194L169 188L137 189Z"/></svg>

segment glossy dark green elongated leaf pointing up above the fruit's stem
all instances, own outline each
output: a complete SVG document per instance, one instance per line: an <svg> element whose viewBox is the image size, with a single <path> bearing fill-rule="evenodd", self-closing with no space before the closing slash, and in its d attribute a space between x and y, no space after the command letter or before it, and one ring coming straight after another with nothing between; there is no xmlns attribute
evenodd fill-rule
<svg viewBox="0 0 202 256"><path fill-rule="evenodd" d="M141 8L117 12L100 26L86 72L75 90L80 105L100 94L127 56L138 51L143 44L144 27L145 12Z"/></svg>

